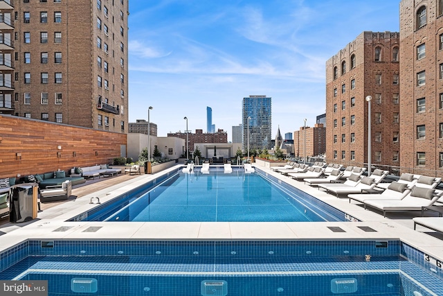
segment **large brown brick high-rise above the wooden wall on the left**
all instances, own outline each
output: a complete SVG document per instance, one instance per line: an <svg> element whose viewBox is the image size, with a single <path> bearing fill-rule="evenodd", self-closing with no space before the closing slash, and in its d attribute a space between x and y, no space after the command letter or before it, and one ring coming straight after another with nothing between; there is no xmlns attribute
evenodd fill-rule
<svg viewBox="0 0 443 296"><path fill-rule="evenodd" d="M13 15L11 113L127 132L128 0L20 0Z"/></svg>

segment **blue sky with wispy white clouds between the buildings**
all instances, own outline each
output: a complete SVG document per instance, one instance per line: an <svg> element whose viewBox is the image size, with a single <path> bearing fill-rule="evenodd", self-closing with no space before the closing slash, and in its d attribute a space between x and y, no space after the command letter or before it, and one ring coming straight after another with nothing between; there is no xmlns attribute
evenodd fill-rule
<svg viewBox="0 0 443 296"><path fill-rule="evenodd" d="M131 0L129 121L159 137L242 122L242 98L272 98L272 136L325 113L325 62L363 31L398 32L399 0ZM363 99L363 98L362 98Z"/></svg>

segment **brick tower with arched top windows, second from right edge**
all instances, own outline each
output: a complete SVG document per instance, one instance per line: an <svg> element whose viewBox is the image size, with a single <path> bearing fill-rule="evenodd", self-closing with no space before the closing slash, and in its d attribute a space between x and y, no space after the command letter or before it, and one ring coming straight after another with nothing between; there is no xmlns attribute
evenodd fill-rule
<svg viewBox="0 0 443 296"><path fill-rule="evenodd" d="M399 33L363 32L327 60L327 162L368 162L372 96L371 162L399 166L399 49Z"/></svg>

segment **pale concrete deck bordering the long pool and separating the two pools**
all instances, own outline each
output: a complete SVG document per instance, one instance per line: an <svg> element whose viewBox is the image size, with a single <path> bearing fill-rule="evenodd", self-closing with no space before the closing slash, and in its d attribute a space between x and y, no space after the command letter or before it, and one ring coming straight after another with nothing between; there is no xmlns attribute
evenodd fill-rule
<svg viewBox="0 0 443 296"><path fill-rule="evenodd" d="M273 222L273 223L241 223L241 222L66 222L84 211L97 207L89 204L91 197L106 202L118 195L140 186L163 173L177 171L180 165L154 175L140 175L130 180L118 182L101 188L75 200L67 200L54 207L38 213L38 218L28 223L6 223L0 225L0 251L17 245L26 239L70 239L70 240L397 240L443 260L443 239L440 234L433 234L429 229L417 227L413 230L412 217L419 213L394 213L383 218L383 215L365 210L358 204L350 203L347 198L336 198L316 187L305 185L275 173L267 168L259 167L265 173L277 177L296 188L305 191L336 209L364 222ZM116 179L117 180L117 179ZM91 185L92 186L92 185ZM366 226L375 232L365 232L359 228ZM62 229L60 229L62 227ZM96 231L91 232L91 228ZM332 232L328 227L340 227L344 232ZM60 231L62 230L62 231ZM85 232L87 230L87 232ZM422 231L430 234L422 233ZM435 236L435 237L434 237Z"/></svg>

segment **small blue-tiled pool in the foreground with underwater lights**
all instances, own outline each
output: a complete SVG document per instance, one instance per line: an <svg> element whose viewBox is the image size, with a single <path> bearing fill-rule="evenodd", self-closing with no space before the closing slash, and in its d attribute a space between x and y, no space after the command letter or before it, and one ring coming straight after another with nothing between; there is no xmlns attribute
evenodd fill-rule
<svg viewBox="0 0 443 296"><path fill-rule="evenodd" d="M0 254L0 279L47 280L50 296L443 295L424 256L401 241L32 240Z"/></svg>

